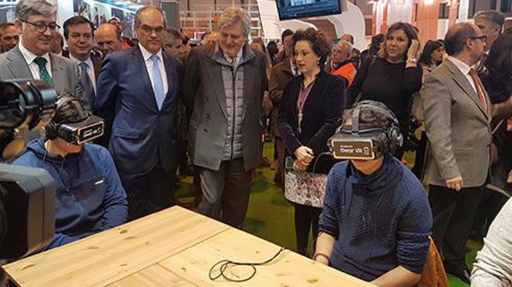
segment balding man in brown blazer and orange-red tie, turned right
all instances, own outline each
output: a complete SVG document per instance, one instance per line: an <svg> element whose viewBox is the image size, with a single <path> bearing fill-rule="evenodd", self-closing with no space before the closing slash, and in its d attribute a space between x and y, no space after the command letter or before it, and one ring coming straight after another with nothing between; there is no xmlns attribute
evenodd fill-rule
<svg viewBox="0 0 512 287"><path fill-rule="evenodd" d="M493 116L512 113L512 99L491 105L475 70L486 36L474 24L449 28L449 57L426 79L421 97L431 144L425 179L433 213L433 240L447 272L469 283L465 242L490 166Z"/></svg>

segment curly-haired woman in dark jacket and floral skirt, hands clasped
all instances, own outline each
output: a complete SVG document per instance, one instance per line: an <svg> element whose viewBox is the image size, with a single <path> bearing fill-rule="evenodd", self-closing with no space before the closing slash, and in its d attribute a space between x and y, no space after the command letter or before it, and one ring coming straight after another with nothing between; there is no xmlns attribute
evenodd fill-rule
<svg viewBox="0 0 512 287"><path fill-rule="evenodd" d="M279 130L295 172L327 174L334 163L327 154L327 140L336 131L345 108L345 80L324 72L323 66L331 51L324 33L309 28L297 31L292 41L301 75L284 89L279 107ZM290 191L294 190L286 190ZM294 206L297 252L306 255L309 230L313 224L313 237L317 236L321 208L308 204L307 200L302 204L294 202Z"/></svg>

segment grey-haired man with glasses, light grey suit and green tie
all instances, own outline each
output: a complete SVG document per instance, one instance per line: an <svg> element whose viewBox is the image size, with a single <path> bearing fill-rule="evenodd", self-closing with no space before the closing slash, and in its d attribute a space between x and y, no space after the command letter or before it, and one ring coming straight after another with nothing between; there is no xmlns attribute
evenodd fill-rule
<svg viewBox="0 0 512 287"><path fill-rule="evenodd" d="M79 70L71 60L50 53L57 8L44 0L21 0L15 8L19 44L0 55L0 80L41 79L57 92L82 97ZM87 101L85 101L87 103Z"/></svg>

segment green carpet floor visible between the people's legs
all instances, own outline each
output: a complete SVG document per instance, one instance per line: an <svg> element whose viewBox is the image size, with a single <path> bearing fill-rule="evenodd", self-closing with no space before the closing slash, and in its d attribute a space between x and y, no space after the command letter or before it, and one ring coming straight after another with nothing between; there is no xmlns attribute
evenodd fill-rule
<svg viewBox="0 0 512 287"><path fill-rule="evenodd" d="M265 144L263 154L271 160L274 158L272 143ZM414 161L412 154L406 153L404 158L409 166ZM277 245L295 250L293 207L283 197L283 190L274 184L273 179L274 170L268 167L256 169L256 181L251 189L244 230ZM185 177L181 179L176 195L185 202L191 202L192 189L192 178ZM466 261L469 266L472 266L474 256L480 248L481 243L468 241L468 250L470 251L466 255ZM450 287L468 286L451 275L448 275L448 279Z"/></svg>

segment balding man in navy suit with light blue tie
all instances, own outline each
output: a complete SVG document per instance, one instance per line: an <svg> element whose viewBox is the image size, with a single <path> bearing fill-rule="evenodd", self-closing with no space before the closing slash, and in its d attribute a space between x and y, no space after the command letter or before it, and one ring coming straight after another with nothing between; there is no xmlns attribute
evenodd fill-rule
<svg viewBox="0 0 512 287"><path fill-rule="evenodd" d="M130 220L174 204L173 125L183 78L181 62L162 53L163 11L140 8L134 28L139 44L105 58L93 110L112 124L109 150Z"/></svg>

